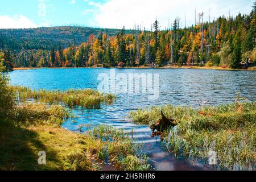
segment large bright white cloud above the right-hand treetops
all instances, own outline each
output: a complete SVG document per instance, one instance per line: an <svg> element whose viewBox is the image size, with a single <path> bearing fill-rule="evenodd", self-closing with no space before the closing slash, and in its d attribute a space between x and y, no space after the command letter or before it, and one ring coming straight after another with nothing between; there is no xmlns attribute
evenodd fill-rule
<svg viewBox="0 0 256 182"><path fill-rule="evenodd" d="M86 1L86 0L85 0ZM246 2L247 1L247 2ZM143 24L150 29L156 16L161 28L168 26L168 19L173 22L179 16L184 27L186 14L187 26L195 23L195 7L197 14L205 12L204 19L209 20L209 8L211 18L222 15L250 13L253 0L108 0L102 4L89 2L89 5L97 8L94 22L105 28L133 28L134 24Z"/></svg>

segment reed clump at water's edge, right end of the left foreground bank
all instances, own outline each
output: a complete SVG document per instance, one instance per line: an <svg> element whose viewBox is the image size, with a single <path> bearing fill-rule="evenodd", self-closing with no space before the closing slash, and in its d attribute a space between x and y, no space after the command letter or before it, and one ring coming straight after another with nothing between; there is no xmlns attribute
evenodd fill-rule
<svg viewBox="0 0 256 182"><path fill-rule="evenodd" d="M92 137L102 141L93 150L101 160L108 156L109 161L122 170L142 171L150 168L148 157L137 155L141 146L134 144L124 130L101 125L93 129Z"/></svg>

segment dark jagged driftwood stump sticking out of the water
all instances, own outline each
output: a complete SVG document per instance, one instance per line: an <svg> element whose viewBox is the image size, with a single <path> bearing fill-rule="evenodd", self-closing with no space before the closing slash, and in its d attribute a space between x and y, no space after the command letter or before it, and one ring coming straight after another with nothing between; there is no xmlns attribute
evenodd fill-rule
<svg viewBox="0 0 256 182"><path fill-rule="evenodd" d="M159 119L156 125L153 124L150 126L152 133L155 133L155 130L158 131L158 133L161 133L177 125L174 119L168 119L167 117L165 117L163 111L161 111L161 115L162 119Z"/></svg>

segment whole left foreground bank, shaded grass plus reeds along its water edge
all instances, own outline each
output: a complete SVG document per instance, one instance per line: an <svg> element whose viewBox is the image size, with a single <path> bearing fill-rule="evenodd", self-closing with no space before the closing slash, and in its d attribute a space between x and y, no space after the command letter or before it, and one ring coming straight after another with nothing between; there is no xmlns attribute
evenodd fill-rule
<svg viewBox="0 0 256 182"><path fill-rule="evenodd" d="M123 130L99 126L85 134L60 127L68 111L61 106L19 105L0 119L0 170L100 170L104 162L118 170L149 169ZM64 118L64 119L63 119ZM38 164L38 152L46 152L46 165Z"/></svg>

